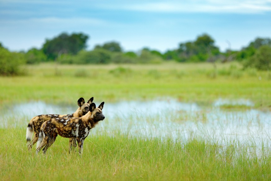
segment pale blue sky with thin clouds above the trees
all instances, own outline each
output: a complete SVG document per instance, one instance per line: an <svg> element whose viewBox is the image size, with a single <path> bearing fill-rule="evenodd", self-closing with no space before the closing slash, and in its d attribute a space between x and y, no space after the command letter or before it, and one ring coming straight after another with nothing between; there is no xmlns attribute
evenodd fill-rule
<svg viewBox="0 0 271 181"><path fill-rule="evenodd" d="M271 0L0 0L0 42L41 48L62 32L90 36L88 49L117 41L125 51L165 52L203 33L224 51L271 38Z"/></svg>

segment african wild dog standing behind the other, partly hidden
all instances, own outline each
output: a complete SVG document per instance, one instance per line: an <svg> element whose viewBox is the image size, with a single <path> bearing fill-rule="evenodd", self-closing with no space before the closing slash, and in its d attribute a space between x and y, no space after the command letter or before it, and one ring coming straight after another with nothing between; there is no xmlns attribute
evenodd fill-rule
<svg viewBox="0 0 271 181"><path fill-rule="evenodd" d="M84 98L80 98L77 103L79 108L75 111L73 114L65 114L65 115L60 115L60 114L42 114L39 116L33 117L26 129L26 141L28 143L28 150L30 151L32 146L38 141L38 134L41 128L41 125L52 118L79 118L87 114L89 111L89 104L93 102L93 97L88 100L87 103L85 103ZM32 141L30 142L32 138L32 134L34 132L34 137ZM75 139L70 139L69 140L69 150L71 150L73 147L76 147L76 140Z"/></svg>

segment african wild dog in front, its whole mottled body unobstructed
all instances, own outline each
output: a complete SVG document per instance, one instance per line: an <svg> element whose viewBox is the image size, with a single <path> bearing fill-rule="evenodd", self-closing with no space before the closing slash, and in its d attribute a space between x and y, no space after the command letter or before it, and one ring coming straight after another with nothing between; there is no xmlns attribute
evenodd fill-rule
<svg viewBox="0 0 271 181"><path fill-rule="evenodd" d="M83 153L83 144L90 129L104 120L102 114L104 102L97 108L95 103L89 105L89 112L81 118L53 118L45 121L40 129L36 154L43 148L45 154L47 149L55 142L57 135L76 139L79 154Z"/></svg>

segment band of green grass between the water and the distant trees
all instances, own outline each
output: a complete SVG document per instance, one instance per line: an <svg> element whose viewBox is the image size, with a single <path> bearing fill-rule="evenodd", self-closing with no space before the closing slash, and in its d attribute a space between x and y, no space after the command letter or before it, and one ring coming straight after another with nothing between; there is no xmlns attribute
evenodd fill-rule
<svg viewBox="0 0 271 181"><path fill-rule="evenodd" d="M23 77L0 77L2 104L30 100L76 104L79 97L94 96L105 102L172 97L211 105L218 98L243 98L253 101L255 108L270 109L268 72L242 71L238 64L217 64L215 76L210 74L214 68L208 63L40 64L25 70L28 75Z"/></svg>

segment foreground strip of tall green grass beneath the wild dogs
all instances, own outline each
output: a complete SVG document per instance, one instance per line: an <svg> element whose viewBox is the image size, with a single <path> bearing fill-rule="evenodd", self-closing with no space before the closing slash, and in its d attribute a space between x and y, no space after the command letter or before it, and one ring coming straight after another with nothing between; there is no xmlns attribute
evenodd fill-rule
<svg viewBox="0 0 271 181"><path fill-rule="evenodd" d="M25 129L0 130L1 180L270 180L270 150L251 145L221 146L200 138L182 142L121 133L90 135L84 153L68 154L57 137L47 154L25 145Z"/></svg>

